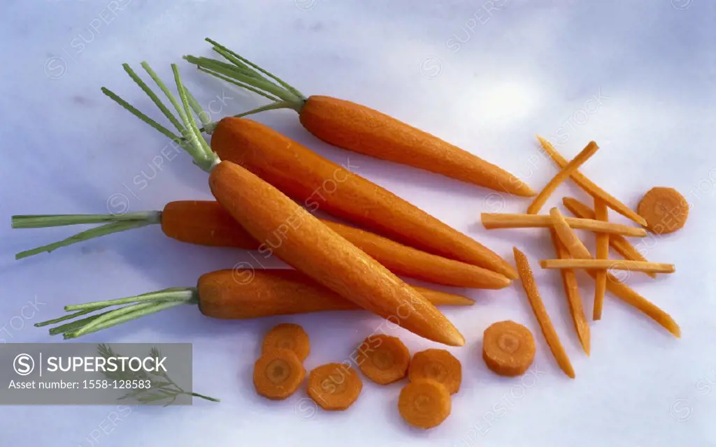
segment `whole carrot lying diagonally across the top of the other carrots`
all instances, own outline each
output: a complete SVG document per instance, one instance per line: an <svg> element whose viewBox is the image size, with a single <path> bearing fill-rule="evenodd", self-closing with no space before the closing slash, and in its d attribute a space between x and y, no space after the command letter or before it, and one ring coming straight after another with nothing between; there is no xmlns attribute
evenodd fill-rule
<svg viewBox="0 0 716 447"><path fill-rule="evenodd" d="M183 125L173 117L155 94L150 93L149 87L143 84L136 74L132 76L131 69L127 72L147 92L160 110L165 112L165 116L168 119L172 117L170 121L175 123L184 139L180 139L146 117L116 94L112 94L107 89L104 90L105 93L122 104L125 109L180 143L180 146L192 155L195 164L209 172L209 187L216 200L254 239L268 241L271 237L280 236L281 242L272 248L271 253L296 270L304 272L317 283L383 318L395 318L396 324L424 338L448 345L459 346L465 343L463 335L448 318L445 318L445 315L440 313L440 310L393 275L390 270L326 227L276 187L269 185L239 164L223 161L219 154L213 152L203 139L194 118L194 114L197 114L204 127L211 127L208 114L184 88L176 65L173 64L172 69L183 107L180 107L174 95L150 67L147 64L142 66L175 105ZM125 69L128 68L125 66ZM237 118L232 120L244 121ZM221 123L219 126L221 127ZM271 132L276 134L274 131ZM259 133L266 135L271 132ZM234 151L245 149L252 152L251 148L242 144L241 132L234 134L236 138L232 138L230 134L231 132L226 135L228 138L222 139L223 147ZM263 140L254 142L254 145L271 147L273 150L286 150L286 144L274 146L275 143L275 140ZM296 163L294 160L294 165ZM281 169L281 167L274 167L274 169ZM294 178L300 176L296 170L289 168L287 171ZM396 314L398 314L397 318Z"/></svg>

